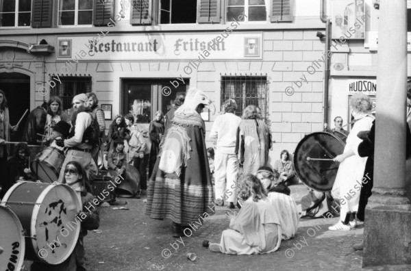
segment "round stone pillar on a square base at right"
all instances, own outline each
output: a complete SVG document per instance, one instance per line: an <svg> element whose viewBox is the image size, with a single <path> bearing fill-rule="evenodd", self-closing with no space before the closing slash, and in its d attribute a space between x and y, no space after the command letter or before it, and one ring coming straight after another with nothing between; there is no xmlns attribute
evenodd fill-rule
<svg viewBox="0 0 411 271"><path fill-rule="evenodd" d="M374 188L364 224L363 267L411 263L406 198L406 0L379 5Z"/></svg>

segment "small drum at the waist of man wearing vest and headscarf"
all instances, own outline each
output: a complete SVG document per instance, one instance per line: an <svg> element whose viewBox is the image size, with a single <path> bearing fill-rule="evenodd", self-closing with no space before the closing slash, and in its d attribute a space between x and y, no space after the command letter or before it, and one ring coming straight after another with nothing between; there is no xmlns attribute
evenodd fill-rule
<svg viewBox="0 0 411 271"><path fill-rule="evenodd" d="M37 175L38 179L46 183L53 183L53 181L58 180L64 159L66 157L63 151L53 147L46 147L42 149L41 153L30 164L32 175Z"/></svg>

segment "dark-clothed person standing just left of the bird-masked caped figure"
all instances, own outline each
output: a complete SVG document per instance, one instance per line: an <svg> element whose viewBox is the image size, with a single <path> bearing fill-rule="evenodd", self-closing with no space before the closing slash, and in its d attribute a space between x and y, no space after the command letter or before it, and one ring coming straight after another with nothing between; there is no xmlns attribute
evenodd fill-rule
<svg viewBox="0 0 411 271"><path fill-rule="evenodd" d="M161 111L155 112L155 118L150 122L149 133L151 140L149 177L151 177L158 152L160 151L160 142L164 136L164 114Z"/></svg>

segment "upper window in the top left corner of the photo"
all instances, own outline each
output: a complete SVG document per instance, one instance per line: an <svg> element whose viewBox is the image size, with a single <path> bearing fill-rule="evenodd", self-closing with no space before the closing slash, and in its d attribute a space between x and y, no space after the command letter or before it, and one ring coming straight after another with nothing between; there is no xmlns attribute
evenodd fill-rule
<svg viewBox="0 0 411 271"><path fill-rule="evenodd" d="M30 26L32 0L0 0L0 27Z"/></svg>

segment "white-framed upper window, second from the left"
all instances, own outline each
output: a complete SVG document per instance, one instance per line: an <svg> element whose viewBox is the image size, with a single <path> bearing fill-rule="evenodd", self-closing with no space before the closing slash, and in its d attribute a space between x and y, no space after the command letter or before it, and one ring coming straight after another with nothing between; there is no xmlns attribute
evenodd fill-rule
<svg viewBox="0 0 411 271"><path fill-rule="evenodd" d="M59 0L58 25L91 25L92 0Z"/></svg>

